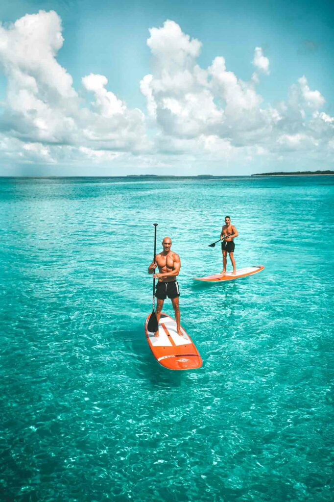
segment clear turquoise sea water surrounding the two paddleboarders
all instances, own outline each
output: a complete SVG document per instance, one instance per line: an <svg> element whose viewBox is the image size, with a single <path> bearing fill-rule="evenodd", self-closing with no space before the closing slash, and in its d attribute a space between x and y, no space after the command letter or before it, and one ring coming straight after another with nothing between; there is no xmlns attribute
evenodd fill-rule
<svg viewBox="0 0 334 502"><path fill-rule="evenodd" d="M331 500L333 194L330 176L0 180L0 498ZM237 268L265 270L196 283L222 269L226 214ZM154 222L199 370L145 339Z"/></svg>

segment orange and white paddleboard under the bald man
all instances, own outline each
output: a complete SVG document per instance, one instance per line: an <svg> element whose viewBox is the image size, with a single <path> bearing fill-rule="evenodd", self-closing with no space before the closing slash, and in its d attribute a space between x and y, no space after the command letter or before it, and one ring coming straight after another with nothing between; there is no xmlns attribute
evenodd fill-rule
<svg viewBox="0 0 334 502"><path fill-rule="evenodd" d="M168 369L196 369L202 366L202 358L192 339L181 326L183 336L177 332L176 321L167 314L160 314L159 336L147 331L147 323L151 314L145 321L145 333L148 345L155 359Z"/></svg>

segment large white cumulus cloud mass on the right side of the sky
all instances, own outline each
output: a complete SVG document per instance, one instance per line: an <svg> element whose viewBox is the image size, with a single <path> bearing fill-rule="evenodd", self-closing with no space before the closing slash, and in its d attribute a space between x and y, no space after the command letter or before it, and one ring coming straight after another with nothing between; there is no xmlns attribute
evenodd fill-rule
<svg viewBox="0 0 334 502"><path fill-rule="evenodd" d="M256 71L245 81L226 67L223 56L201 68L201 43L176 23L166 21L149 33L153 71L142 79L140 88L148 115L159 130L157 150L178 153L189 148L194 153L200 147L208 154L221 152L224 158L227 151L237 157L248 149L248 157L263 157L280 150L320 150L330 134L327 116L310 114L325 101L318 90L310 89L305 76L291 86L286 102L276 107L264 104L256 86L261 73L270 74L270 62L261 47L254 50Z"/></svg>

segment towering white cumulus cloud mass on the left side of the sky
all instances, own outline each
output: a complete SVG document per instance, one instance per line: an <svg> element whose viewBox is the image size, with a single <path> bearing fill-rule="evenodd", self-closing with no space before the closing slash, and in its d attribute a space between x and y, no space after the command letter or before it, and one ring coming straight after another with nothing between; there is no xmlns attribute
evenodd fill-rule
<svg viewBox="0 0 334 502"><path fill-rule="evenodd" d="M27 145L146 149L144 114L129 110L108 91L105 76L83 77L83 87L94 95L91 107L83 106L71 75L57 61L63 42L61 20L54 11L27 14L0 26L0 65L8 80L2 130ZM24 150L26 157L33 151Z"/></svg>

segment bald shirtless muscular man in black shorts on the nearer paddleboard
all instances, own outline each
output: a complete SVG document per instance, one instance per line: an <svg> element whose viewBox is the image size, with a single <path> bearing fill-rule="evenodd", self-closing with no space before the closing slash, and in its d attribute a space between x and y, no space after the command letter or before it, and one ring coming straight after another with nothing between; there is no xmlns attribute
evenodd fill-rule
<svg viewBox="0 0 334 502"><path fill-rule="evenodd" d="M175 320L177 322L177 331L180 336L183 333L180 328L180 308L179 308L179 284L177 282L177 276L180 273L181 261L179 255L171 250L172 240L170 237L164 237L161 242L163 251L156 255L155 263L152 262L148 267L148 273L153 274L156 266L159 268L159 274L154 274L153 277L158 279L155 288L155 298L156 298L156 309L155 315L157 322L159 324L160 313L162 310L163 301L166 297L172 300L172 305L175 312ZM156 331L154 336L159 336L159 332Z"/></svg>

